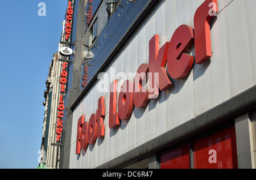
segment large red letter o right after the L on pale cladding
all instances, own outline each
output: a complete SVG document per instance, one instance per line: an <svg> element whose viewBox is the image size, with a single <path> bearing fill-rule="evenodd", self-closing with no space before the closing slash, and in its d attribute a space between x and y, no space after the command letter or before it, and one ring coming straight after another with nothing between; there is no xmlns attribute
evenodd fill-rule
<svg viewBox="0 0 256 180"><path fill-rule="evenodd" d="M133 82L126 80L123 82L118 97L119 118L127 120L133 111Z"/></svg>

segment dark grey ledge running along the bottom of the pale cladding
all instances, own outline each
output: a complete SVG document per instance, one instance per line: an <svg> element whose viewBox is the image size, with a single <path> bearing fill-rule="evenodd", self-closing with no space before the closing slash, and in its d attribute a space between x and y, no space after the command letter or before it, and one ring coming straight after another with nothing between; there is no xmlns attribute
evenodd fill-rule
<svg viewBox="0 0 256 180"><path fill-rule="evenodd" d="M147 157L148 154L156 153L179 140L187 139L201 131L220 125L228 119L233 119L237 115L253 110L256 108L255 93L256 86L97 168L119 168L129 161L136 162L138 158ZM242 105L241 102L243 102Z"/></svg>

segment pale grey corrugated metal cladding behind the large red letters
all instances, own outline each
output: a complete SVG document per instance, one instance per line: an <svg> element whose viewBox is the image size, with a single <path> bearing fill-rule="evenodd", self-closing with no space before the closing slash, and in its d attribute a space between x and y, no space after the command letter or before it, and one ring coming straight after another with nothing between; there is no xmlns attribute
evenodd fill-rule
<svg viewBox="0 0 256 180"><path fill-rule="evenodd" d="M109 84L118 72L136 72L148 63L148 41L160 36L160 47L171 40L179 25L192 27L197 8L204 0L166 0L158 4L143 20L121 52L106 68ZM209 109L229 100L255 85L256 77L256 12L254 0L218 1L218 14L211 23L212 58L202 65L193 65L189 75L172 80L171 88L148 101L145 108L136 108L129 121L109 128L109 92L100 93L97 83L73 111L69 168L97 168L139 145L170 131ZM191 55L195 56L193 48ZM114 69L113 69L114 68ZM128 77L133 81L133 77ZM117 89L120 88L118 83ZM98 98L105 97L105 137L88 145L86 152L76 155L77 121L96 113ZM118 95L117 95L118 97Z"/></svg>

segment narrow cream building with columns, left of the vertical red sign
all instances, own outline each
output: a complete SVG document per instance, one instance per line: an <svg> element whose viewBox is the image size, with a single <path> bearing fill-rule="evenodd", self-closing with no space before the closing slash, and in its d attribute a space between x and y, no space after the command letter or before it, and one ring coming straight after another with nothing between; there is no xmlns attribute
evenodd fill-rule
<svg viewBox="0 0 256 180"><path fill-rule="evenodd" d="M44 98L46 101L43 105L46 107L44 112L43 138L41 145L41 161L47 168L56 169L59 167L57 160L59 159L59 149L52 144L56 143L56 112L59 104L59 81L61 63L58 61L58 54L53 54L52 62L49 65L49 74L46 81L46 91Z"/></svg>

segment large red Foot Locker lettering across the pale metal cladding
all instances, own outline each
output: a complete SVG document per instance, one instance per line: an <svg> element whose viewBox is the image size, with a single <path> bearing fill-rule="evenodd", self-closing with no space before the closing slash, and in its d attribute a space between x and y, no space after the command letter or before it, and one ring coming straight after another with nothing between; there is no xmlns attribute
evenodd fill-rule
<svg viewBox="0 0 256 180"><path fill-rule="evenodd" d="M206 0L197 8L194 16L194 27L180 25L171 37L159 47L159 35L154 35L149 44L148 64L139 66L134 82L126 80L117 98L117 80L110 83L109 128L117 128L120 121L129 119L133 107L143 108L149 100L155 99L159 91L166 91L173 84L173 79L183 79L195 63L201 65L212 57L210 40L210 20L218 12L217 0ZM195 57L187 54L195 44ZM167 65L166 65L167 64ZM167 70L166 70L167 67ZM155 77L155 74L158 77ZM142 80L148 82L148 91L142 88ZM149 91L151 89L152 91ZM118 106L117 106L118 101ZM81 115L77 123L76 154L86 150L88 144L94 144L96 138L104 136L103 118L105 116L104 97L98 99L98 110L90 116L89 122Z"/></svg>

